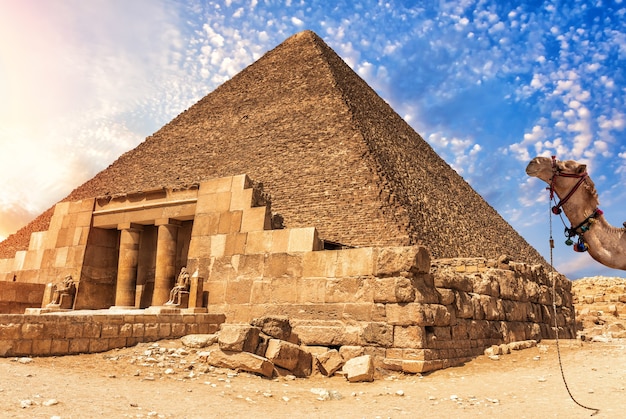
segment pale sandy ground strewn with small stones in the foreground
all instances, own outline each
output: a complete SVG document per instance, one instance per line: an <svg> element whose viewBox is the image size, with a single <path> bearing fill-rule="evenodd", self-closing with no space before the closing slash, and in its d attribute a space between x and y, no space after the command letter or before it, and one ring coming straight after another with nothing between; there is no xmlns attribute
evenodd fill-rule
<svg viewBox="0 0 626 419"><path fill-rule="evenodd" d="M493 360L371 383L260 378L215 369L179 340L101 354L0 358L3 418L587 418L555 341ZM573 397L623 417L626 341L560 340Z"/></svg>

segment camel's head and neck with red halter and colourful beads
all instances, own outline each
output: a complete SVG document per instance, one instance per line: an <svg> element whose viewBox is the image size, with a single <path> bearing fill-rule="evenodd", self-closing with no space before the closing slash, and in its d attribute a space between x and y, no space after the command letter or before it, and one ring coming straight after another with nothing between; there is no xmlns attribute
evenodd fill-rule
<svg viewBox="0 0 626 419"><path fill-rule="evenodd" d="M574 250L588 251L601 264L626 270L626 235L624 228L610 225L598 208L598 193L587 174L587 165L573 160L559 161L555 157L535 157L528 163L526 173L546 182L550 198L556 194L560 202L552 207L554 214L561 208L571 223L566 228L566 244L578 236ZM626 225L626 223L625 223Z"/></svg>

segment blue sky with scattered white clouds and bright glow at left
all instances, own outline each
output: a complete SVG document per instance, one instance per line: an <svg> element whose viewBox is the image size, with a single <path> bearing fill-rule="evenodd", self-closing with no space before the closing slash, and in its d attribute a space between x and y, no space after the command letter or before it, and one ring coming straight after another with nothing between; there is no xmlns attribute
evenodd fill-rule
<svg viewBox="0 0 626 419"><path fill-rule="evenodd" d="M305 29L547 261L532 157L586 163L626 220L626 0L0 0L0 240ZM559 272L626 277L551 221Z"/></svg>

